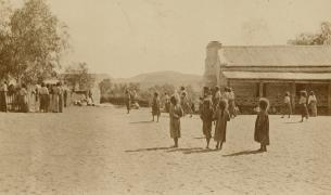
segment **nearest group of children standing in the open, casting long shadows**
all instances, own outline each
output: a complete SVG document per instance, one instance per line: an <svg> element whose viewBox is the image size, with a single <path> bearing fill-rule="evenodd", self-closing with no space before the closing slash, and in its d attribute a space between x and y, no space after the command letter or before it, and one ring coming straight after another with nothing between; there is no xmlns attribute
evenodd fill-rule
<svg viewBox="0 0 331 195"><path fill-rule="evenodd" d="M180 103L176 93L169 99L169 102L170 138L174 139L174 147L178 147L178 139L181 134L180 118L184 116L182 106L186 104ZM254 140L260 143L259 151L266 152L267 145L269 145L269 117L267 112L269 101L267 99L260 99L258 104L260 112L257 114L255 121ZM227 122L230 121L231 118L234 118L235 115L233 90L225 88L225 91L220 92L220 88L215 87L213 94L213 90L207 87L204 88L203 98L200 104L200 117L203 122L203 134L206 138L206 148L209 148L214 123L215 148L221 150L222 144L226 142Z"/></svg>

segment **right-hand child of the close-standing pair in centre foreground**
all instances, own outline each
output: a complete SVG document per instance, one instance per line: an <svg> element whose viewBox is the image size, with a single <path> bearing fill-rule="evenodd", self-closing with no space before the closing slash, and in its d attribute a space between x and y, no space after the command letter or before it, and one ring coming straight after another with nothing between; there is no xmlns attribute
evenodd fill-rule
<svg viewBox="0 0 331 195"><path fill-rule="evenodd" d="M227 122L230 120L230 115L228 113L228 103L226 100L220 100L214 115L216 120L214 140L217 142L216 150L221 150L222 143L226 142L227 135Z"/></svg>

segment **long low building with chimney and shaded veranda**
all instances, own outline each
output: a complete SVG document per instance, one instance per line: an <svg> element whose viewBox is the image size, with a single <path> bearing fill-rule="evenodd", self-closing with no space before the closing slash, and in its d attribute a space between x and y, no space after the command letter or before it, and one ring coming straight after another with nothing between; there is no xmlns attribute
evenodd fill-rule
<svg viewBox="0 0 331 195"><path fill-rule="evenodd" d="M314 91L319 114L331 114L330 46L222 46L206 48L204 83L234 89L241 110L253 110L259 98L280 110L289 91L297 107L301 90ZM297 110L296 110L297 113Z"/></svg>

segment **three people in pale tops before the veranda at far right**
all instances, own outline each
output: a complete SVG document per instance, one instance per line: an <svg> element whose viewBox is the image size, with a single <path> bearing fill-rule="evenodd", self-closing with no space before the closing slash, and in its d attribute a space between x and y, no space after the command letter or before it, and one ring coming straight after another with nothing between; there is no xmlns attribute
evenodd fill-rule
<svg viewBox="0 0 331 195"><path fill-rule="evenodd" d="M308 120L310 117L317 116L317 99L314 91L309 92L309 95L307 94L306 90L300 91L300 99L298 99L298 106L300 106L300 113L302 116L301 122L304 121L304 119ZM290 118L292 115L292 103L291 103L291 94L290 92L285 93L284 96L284 106L283 106L283 115L288 115Z"/></svg>

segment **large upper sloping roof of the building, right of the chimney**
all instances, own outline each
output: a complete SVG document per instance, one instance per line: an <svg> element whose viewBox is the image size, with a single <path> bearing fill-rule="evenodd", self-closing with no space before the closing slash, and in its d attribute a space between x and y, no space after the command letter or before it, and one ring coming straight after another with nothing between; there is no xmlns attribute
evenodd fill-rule
<svg viewBox="0 0 331 195"><path fill-rule="evenodd" d="M330 46L221 47L228 66L331 66Z"/></svg>

